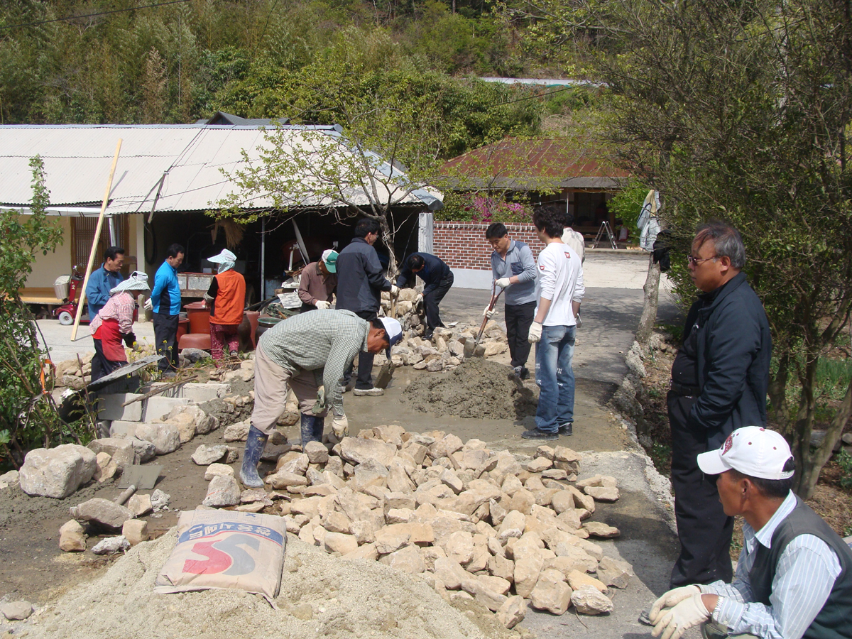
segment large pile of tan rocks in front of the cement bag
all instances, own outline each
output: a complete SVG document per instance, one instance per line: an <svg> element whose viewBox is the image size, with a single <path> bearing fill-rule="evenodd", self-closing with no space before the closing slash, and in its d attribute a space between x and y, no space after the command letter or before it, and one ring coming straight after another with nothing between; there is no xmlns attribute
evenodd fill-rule
<svg viewBox="0 0 852 639"><path fill-rule="evenodd" d="M246 431L235 423L225 438ZM420 575L446 599L481 602L507 628L523 619L527 601L555 614L571 606L608 613L608 589L625 588L632 575L589 540L619 536L591 520L596 501L619 498L615 480L577 481L580 456L569 448L539 446L531 458L391 425L277 452L270 491L241 491L230 466L208 466L200 508L283 515L309 544Z"/></svg>

